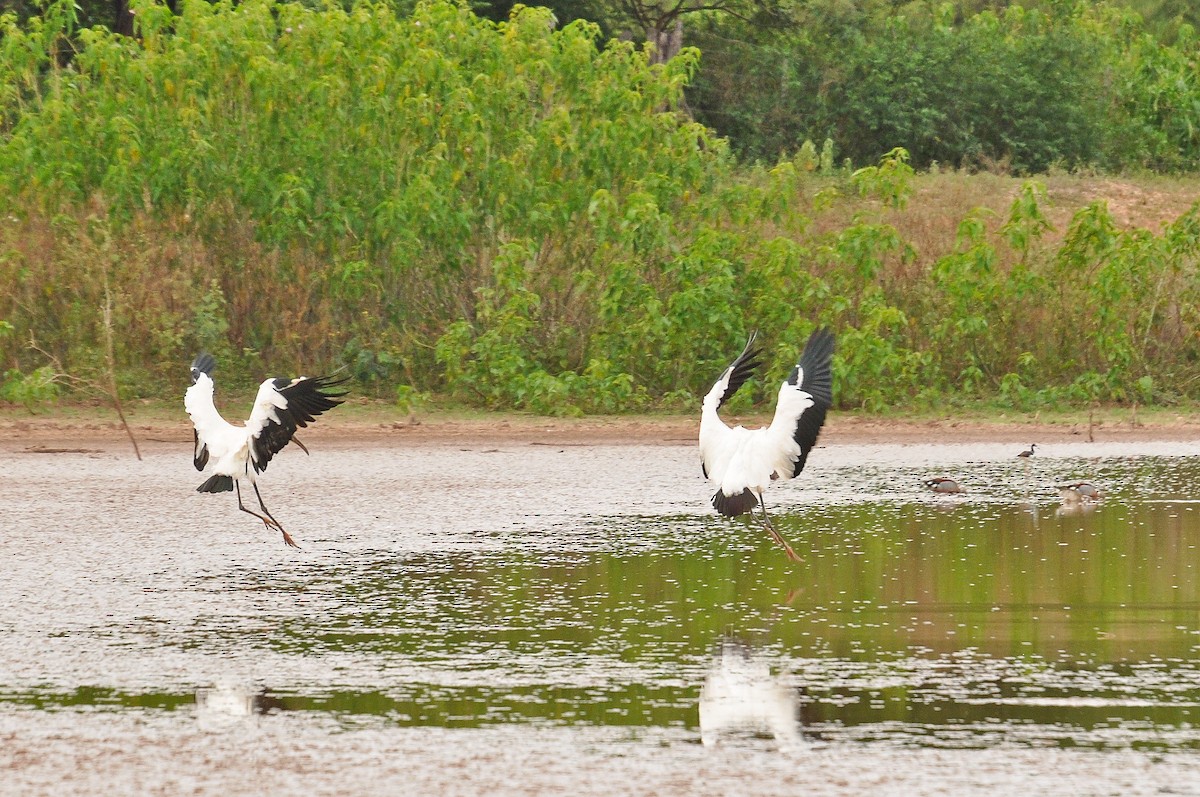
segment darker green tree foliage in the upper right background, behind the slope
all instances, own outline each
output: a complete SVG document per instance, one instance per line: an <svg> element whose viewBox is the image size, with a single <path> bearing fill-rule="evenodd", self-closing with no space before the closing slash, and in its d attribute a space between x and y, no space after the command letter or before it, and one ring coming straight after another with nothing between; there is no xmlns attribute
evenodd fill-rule
<svg viewBox="0 0 1200 797"><path fill-rule="evenodd" d="M810 13L788 30L713 18L691 37L697 118L773 161L829 138L856 163L1012 170L1200 168L1200 42L1164 44L1106 4Z"/></svg>

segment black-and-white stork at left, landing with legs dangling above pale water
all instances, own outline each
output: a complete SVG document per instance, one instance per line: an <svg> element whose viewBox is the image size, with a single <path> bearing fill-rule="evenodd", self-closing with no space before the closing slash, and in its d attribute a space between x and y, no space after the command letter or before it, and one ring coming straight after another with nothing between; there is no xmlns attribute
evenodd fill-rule
<svg viewBox="0 0 1200 797"><path fill-rule="evenodd" d="M266 379L258 388L254 407L250 418L241 426L228 423L212 403L212 370L216 360L211 354L199 354L192 361L192 386L184 394L184 408L192 419L196 451L192 457L197 471L203 471L212 462L212 475L205 480L197 492L236 491L238 509L263 521L268 528L283 533L283 541L292 547L296 545L292 535L271 515L263 503L263 496L256 484L257 474L266 469L271 457L295 441L304 450L308 449L295 438L298 427L306 427L316 417L342 403L346 391L325 392L329 388L346 382L346 378L296 377L294 379ZM241 481L245 479L254 487L259 515L241 503Z"/></svg>

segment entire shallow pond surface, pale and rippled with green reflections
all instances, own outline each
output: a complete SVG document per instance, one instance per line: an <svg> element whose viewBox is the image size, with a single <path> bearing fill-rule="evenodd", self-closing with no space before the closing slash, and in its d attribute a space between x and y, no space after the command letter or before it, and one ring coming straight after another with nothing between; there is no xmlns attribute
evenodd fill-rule
<svg viewBox="0 0 1200 797"><path fill-rule="evenodd" d="M311 448L0 455L0 791L1200 793L1188 445Z"/></svg>

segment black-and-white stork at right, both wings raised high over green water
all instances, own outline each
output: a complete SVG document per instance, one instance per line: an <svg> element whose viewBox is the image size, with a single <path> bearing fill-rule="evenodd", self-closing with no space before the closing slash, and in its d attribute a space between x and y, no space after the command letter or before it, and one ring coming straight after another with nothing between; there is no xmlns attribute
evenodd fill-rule
<svg viewBox="0 0 1200 797"><path fill-rule="evenodd" d="M757 332L750 334L742 354L725 368L704 396L700 418L700 462L704 477L718 485L713 507L726 517L752 513L762 507L762 520L788 558L799 561L767 517L762 493L776 479L792 479L804 469L809 451L816 445L826 412L833 403L830 361L834 336L818 329L809 336L799 362L779 388L775 417L770 426L749 430L730 427L716 411L737 392L760 365L762 349L755 348Z"/></svg>

